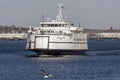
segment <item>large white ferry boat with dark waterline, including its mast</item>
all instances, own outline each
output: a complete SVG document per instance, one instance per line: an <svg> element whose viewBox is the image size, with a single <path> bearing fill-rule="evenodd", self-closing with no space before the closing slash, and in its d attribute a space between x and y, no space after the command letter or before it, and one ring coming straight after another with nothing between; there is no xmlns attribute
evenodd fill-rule
<svg viewBox="0 0 120 80"><path fill-rule="evenodd" d="M47 55L83 54L88 49L87 34L81 27L68 24L62 17L63 4L58 6L56 19L48 18L38 27L30 28L26 48Z"/></svg>

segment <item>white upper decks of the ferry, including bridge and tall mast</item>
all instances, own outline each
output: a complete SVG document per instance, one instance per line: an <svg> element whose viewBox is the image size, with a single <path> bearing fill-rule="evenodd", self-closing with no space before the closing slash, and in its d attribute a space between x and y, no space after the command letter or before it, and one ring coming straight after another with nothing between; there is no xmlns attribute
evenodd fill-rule
<svg viewBox="0 0 120 80"><path fill-rule="evenodd" d="M56 16L56 19L50 20L49 18L46 21L42 20L39 27L34 27L34 30L31 32L33 34L68 34L74 31L83 31L81 27L76 27L73 24L68 24L67 21L62 17L62 7L63 4L59 3L59 12Z"/></svg>

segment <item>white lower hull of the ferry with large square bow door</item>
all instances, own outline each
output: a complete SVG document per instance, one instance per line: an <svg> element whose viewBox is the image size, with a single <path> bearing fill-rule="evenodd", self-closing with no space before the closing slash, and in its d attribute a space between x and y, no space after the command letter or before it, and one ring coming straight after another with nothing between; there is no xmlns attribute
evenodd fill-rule
<svg viewBox="0 0 120 80"><path fill-rule="evenodd" d="M81 34L74 37L64 35L29 35L27 49L40 52L70 52L85 51L88 48L86 35Z"/></svg>

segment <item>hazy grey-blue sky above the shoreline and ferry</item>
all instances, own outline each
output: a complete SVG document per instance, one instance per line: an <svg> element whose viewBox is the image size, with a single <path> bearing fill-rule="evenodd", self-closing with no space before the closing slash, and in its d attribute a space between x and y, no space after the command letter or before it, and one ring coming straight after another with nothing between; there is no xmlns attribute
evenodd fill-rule
<svg viewBox="0 0 120 80"><path fill-rule="evenodd" d="M0 25L38 25L41 16L54 19L59 0L0 0ZM61 0L63 15L85 28L120 29L120 0Z"/></svg>

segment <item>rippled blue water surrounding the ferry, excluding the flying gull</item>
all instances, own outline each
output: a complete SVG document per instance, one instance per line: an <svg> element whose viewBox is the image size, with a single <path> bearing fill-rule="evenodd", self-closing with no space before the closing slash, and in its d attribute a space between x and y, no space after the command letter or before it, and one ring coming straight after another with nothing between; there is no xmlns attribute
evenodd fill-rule
<svg viewBox="0 0 120 80"><path fill-rule="evenodd" d="M89 41L85 56L39 57L25 41L0 41L0 80L120 80L120 41Z"/></svg>

